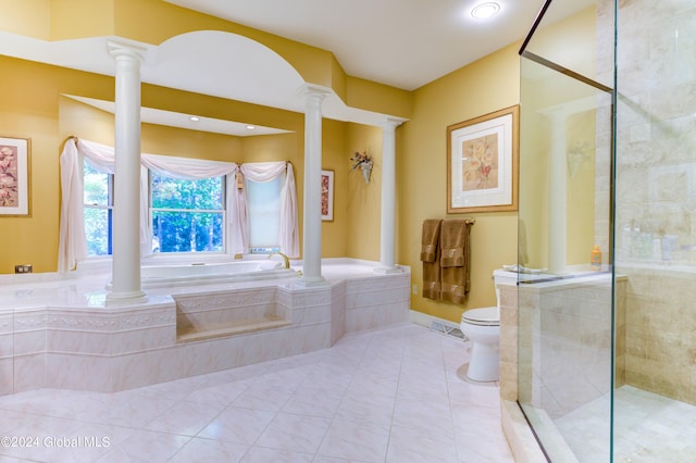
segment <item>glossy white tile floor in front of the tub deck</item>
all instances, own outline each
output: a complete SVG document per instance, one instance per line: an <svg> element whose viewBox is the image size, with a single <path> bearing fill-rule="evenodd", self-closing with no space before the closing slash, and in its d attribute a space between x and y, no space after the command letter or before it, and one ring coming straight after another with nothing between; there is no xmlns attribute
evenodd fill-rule
<svg viewBox="0 0 696 463"><path fill-rule="evenodd" d="M117 393L0 397L5 462L513 462L497 384L418 325Z"/></svg>

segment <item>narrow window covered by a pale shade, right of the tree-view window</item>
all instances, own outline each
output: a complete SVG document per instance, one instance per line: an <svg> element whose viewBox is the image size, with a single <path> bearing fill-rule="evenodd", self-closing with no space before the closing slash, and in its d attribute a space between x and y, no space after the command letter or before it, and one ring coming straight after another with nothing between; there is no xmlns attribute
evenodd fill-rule
<svg viewBox="0 0 696 463"><path fill-rule="evenodd" d="M278 176L263 183L246 182L251 253L270 253L279 250L283 178L284 176Z"/></svg>

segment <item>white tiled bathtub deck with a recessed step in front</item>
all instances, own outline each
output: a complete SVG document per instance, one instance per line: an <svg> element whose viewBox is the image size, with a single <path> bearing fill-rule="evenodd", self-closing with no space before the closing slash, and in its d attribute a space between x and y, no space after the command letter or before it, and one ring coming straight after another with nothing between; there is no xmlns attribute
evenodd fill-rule
<svg viewBox="0 0 696 463"><path fill-rule="evenodd" d="M323 264L296 278L148 289L111 304L108 275L0 276L0 396L115 392L327 349L344 334L408 323L410 272ZM229 311L232 309L232 311ZM225 312L227 311L227 312Z"/></svg>

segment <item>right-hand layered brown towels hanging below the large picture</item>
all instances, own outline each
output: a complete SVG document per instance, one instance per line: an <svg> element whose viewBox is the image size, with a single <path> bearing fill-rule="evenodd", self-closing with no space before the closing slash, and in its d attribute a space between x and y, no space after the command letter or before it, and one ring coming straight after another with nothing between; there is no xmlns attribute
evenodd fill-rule
<svg viewBox="0 0 696 463"><path fill-rule="evenodd" d="M465 221L443 222L443 230L440 232L442 252L446 251L443 239L447 228L448 237L451 238L447 245L447 252L448 254L450 252L453 254L451 258L440 256L440 265L443 267L440 299L443 301L461 304L467 300L467 293L471 287L469 276L471 272L470 227L471 224ZM459 265L453 266L452 263Z"/></svg>

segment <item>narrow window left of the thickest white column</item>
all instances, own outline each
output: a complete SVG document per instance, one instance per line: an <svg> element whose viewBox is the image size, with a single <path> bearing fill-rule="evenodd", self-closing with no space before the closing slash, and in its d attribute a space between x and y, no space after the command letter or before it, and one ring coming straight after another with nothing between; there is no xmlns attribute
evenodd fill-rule
<svg viewBox="0 0 696 463"><path fill-rule="evenodd" d="M113 224L113 174L98 172L85 161L83 178L87 255L109 255Z"/></svg>

